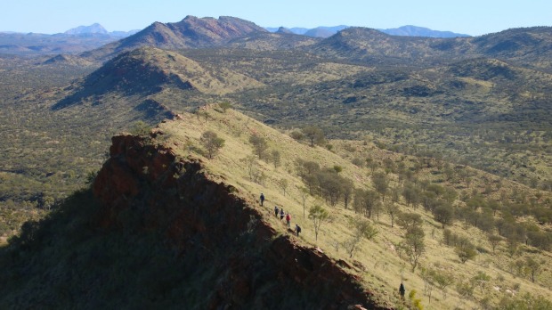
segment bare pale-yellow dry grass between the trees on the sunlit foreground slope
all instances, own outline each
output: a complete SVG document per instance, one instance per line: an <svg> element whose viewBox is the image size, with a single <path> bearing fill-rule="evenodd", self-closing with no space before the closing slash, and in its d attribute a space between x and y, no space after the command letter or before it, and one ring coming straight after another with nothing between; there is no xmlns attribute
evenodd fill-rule
<svg viewBox="0 0 552 310"><path fill-rule="evenodd" d="M283 207L286 211L289 211L293 216L292 223L300 224L304 228L300 237L302 241L321 247L331 257L351 262L345 250L337 249L336 245L351 236L352 231L349 227L348 219L357 215L352 210L345 210L342 204L339 204L337 208L331 208L326 206L323 200L309 197L306 202L307 209L314 204L321 204L334 216L331 223L322 225L319 239L315 241L313 224L308 218L303 217L303 206L299 192L299 188L303 184L294 173L294 162L296 159L301 158L318 161L324 167L333 167L334 165L344 167L341 174L352 178L356 187L371 186L368 176L369 170L353 166L349 159L344 159L345 153L343 154L344 156L339 156L337 153L320 147L311 148L305 144L296 143L288 135L282 135L280 132L264 126L256 120L247 118L234 110L222 113L221 111L217 111L217 109L207 108L207 113L210 115L207 122L205 118L197 118L196 116L186 114L183 116L182 121L171 121L161 124L159 127L164 135L160 135L159 139L165 140L164 143L174 147L179 156L201 157L197 151L194 151L201 148L199 136L206 130L215 131L219 136L223 137L225 145L214 159L204 159L206 168L210 173L220 175L219 177L223 182L236 186L240 194L247 196L252 205L258 205L256 202L258 195L260 192L264 192L267 198L263 207L266 209L266 219L281 233L289 232L287 232L285 224L280 223L280 219L276 219L273 216L272 210L274 205ZM252 148L248 146L248 139L252 134L264 136L269 143L268 148L270 150L278 150L281 154L282 164L278 168L274 168L272 164L266 163L264 160L259 161L259 168L266 175L266 179L262 184L249 180L245 164L240 161L240 159L244 159L252 153ZM351 144L351 142L346 143ZM343 150L340 144L342 143L336 143L337 150ZM398 154L379 150L370 143L366 146L358 143L356 149L361 152L361 148L363 147L367 149L365 152L368 152L374 158L384 156L392 158L400 157ZM479 174L478 176L483 176L482 173ZM285 196L277 183L282 178L288 179L289 183ZM507 184L504 186L514 185ZM477 186L477 184L474 186ZM409 211L416 212L424 219L423 226L426 232L427 253L422 259L422 265L433 266L444 273L451 273L455 283L473 277L478 271L491 275L491 281L484 290L485 296L491 298L491 304L497 303L499 298L505 296L507 294L506 290L514 290L513 288L516 283L521 284L521 291L528 291L533 295L549 296L550 291L548 288L552 285L552 282L549 281L550 272L548 270L540 275L537 281L539 284L533 284L526 279L516 278L507 272L509 270L508 263L513 258L505 255L504 244L499 246L497 251L499 254L493 255L491 253L491 246L487 243L481 231L471 227L465 231L461 224L455 224L451 227L454 232L469 237L479 247L489 249L489 254L480 254L474 261L460 264L459 258L453 249L442 245L441 225L434 221L433 216L427 215L419 208L411 209L404 205L401 205L401 208L402 210L408 209ZM365 285L380 293L380 298L393 304L398 302L395 291L402 277L405 279L407 290L418 290L418 298L421 297L424 283L419 276L418 270L416 273L411 273L410 265L398 257L394 249L394 245L402 241L402 228L397 225L391 228L390 219L383 214L379 217L379 221L375 221L375 223L377 223L376 226L379 234L374 241L362 241L361 249L353 257L354 260L358 260L361 265L366 267L366 272L358 269L355 272L362 276ZM547 261L547 265L552 263L549 253L544 253L540 257ZM431 304L428 303L427 297L422 298L422 303L426 306L426 309L449 309L455 306L473 308L476 306L474 301L460 298L454 288L455 284L447 289L449 292L447 298L443 298L442 293L435 289ZM475 290L475 298L478 300L483 298L481 291Z"/></svg>

